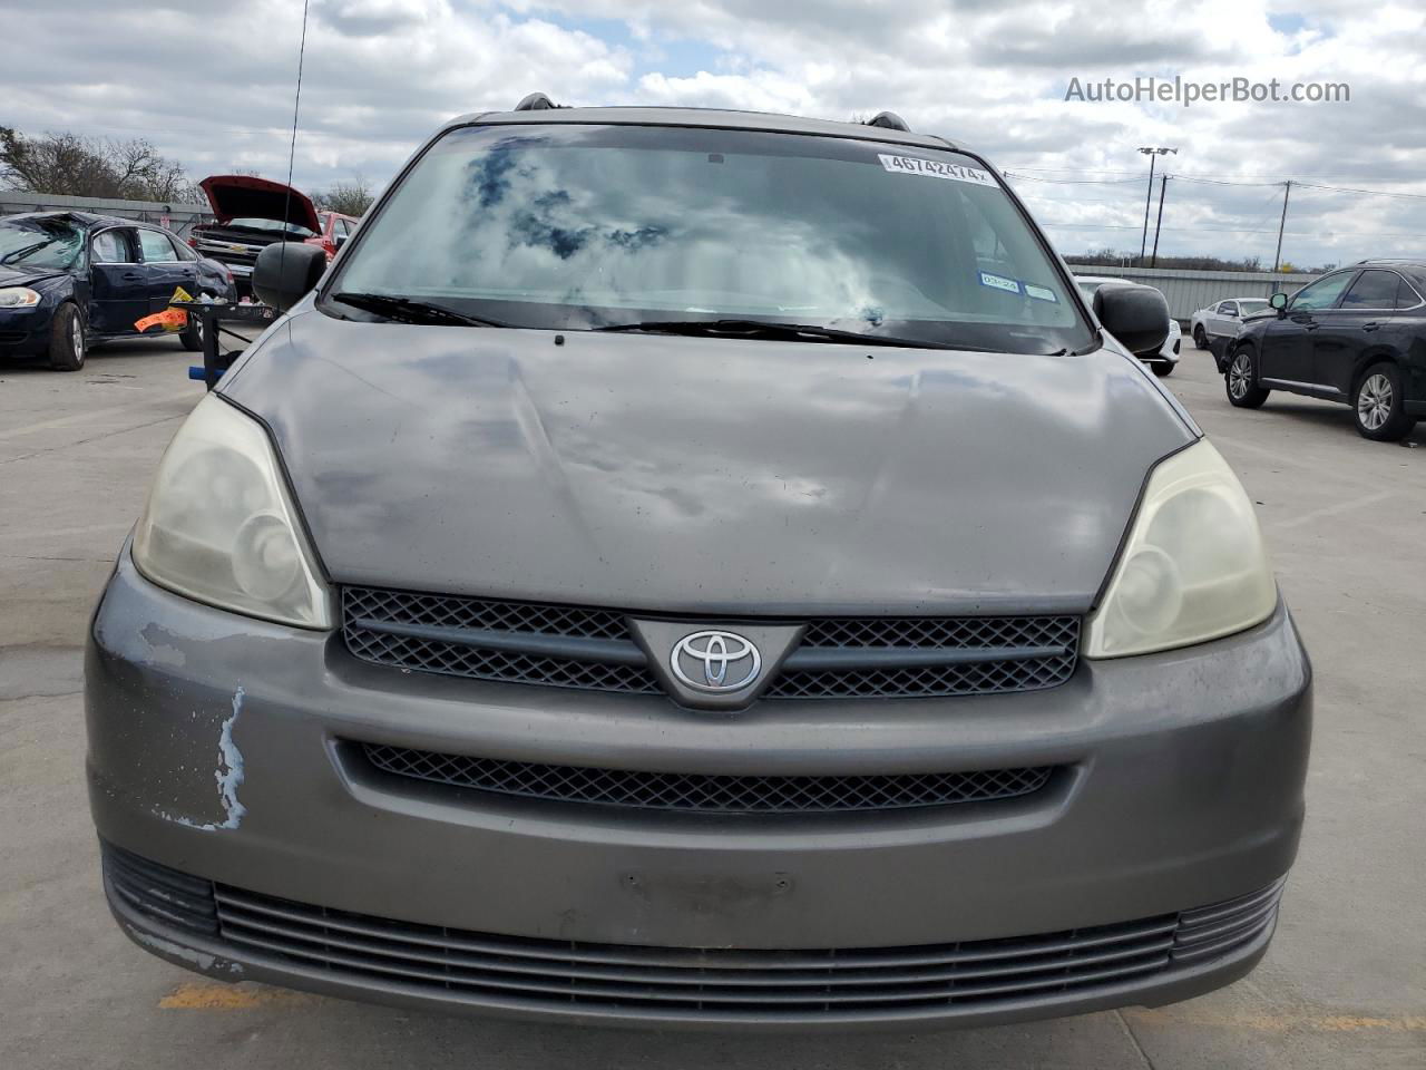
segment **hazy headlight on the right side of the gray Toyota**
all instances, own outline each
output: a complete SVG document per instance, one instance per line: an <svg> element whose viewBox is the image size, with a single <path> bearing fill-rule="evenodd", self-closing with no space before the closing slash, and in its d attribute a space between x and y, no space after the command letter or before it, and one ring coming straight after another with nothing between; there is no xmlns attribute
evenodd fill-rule
<svg viewBox="0 0 1426 1070"><path fill-rule="evenodd" d="M1085 653L1121 658L1216 639L1266 621L1278 589L1252 502L1206 441L1149 477Z"/></svg>

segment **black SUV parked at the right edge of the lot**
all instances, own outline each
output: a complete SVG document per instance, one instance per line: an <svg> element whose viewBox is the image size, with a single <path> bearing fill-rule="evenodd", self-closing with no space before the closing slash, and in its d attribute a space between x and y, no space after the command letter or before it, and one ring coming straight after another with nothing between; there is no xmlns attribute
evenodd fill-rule
<svg viewBox="0 0 1426 1070"><path fill-rule="evenodd" d="M1253 317L1233 338L1228 399L1258 408L1273 389L1343 401L1356 429L1406 438L1426 417L1426 263L1363 260L1273 294L1276 315Z"/></svg>

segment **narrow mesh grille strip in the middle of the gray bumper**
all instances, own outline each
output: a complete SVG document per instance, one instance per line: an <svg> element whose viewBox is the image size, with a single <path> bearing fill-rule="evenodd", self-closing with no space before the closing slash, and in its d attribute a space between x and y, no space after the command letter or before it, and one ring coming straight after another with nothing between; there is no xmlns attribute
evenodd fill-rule
<svg viewBox="0 0 1426 1070"><path fill-rule="evenodd" d="M508 762L365 743L376 769L395 776L525 799L710 813L894 810L1015 799L1042 789L1051 766L878 776L709 776Z"/></svg>

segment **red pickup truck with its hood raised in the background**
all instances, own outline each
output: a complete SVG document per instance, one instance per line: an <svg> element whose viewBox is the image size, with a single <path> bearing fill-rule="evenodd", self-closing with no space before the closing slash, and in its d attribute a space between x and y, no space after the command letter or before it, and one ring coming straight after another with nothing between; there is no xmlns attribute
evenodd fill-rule
<svg viewBox="0 0 1426 1070"><path fill-rule="evenodd" d="M193 228L188 244L201 255L227 264L238 294L252 294L252 265L274 241L317 245L329 261L358 220L335 211L318 211L312 198L284 183L251 174L214 174L198 185L208 197L214 223Z"/></svg>

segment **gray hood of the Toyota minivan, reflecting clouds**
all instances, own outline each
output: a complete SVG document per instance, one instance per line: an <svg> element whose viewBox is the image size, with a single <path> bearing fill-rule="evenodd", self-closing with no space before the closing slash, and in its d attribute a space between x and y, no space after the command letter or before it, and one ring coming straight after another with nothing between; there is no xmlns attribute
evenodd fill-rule
<svg viewBox="0 0 1426 1070"><path fill-rule="evenodd" d="M1082 612L1194 439L1084 357L359 324L224 378L337 582L674 613Z"/></svg>

